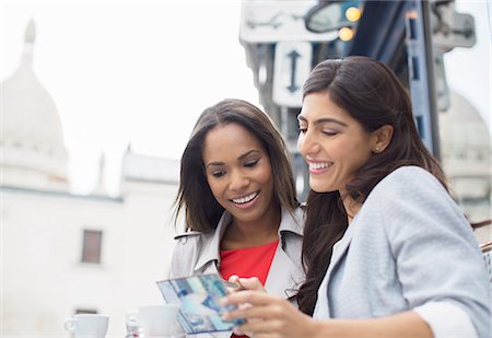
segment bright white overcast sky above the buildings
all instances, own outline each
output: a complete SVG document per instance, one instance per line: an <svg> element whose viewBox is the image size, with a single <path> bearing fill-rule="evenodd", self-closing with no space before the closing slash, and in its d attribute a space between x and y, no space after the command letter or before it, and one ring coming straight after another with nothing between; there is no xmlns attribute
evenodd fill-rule
<svg viewBox="0 0 492 338"><path fill-rule="evenodd" d="M477 14L478 44L446 55L448 84L490 126L485 0L462 0L458 10ZM104 153L107 190L116 195L128 144L179 159L206 107L225 97L259 105L239 18L238 0L2 0L0 79L17 68L34 20L34 70L61 118L72 191L92 190Z"/></svg>

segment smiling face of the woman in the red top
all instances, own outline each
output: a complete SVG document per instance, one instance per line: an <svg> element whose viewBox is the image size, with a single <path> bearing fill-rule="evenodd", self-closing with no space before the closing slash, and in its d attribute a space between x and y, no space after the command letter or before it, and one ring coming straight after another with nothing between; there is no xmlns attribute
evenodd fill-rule
<svg viewBox="0 0 492 338"><path fill-rule="evenodd" d="M258 222L276 212L270 159L258 139L237 124L219 125L202 151L207 182L236 222Z"/></svg>

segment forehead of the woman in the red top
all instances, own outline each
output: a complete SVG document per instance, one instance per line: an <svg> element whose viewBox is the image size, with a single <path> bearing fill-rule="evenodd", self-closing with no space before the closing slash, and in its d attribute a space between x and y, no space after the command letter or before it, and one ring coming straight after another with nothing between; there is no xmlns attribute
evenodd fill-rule
<svg viewBox="0 0 492 338"><path fill-rule="evenodd" d="M261 142L238 124L219 125L207 132L202 156L209 161L237 160L241 155L257 150L263 152Z"/></svg>

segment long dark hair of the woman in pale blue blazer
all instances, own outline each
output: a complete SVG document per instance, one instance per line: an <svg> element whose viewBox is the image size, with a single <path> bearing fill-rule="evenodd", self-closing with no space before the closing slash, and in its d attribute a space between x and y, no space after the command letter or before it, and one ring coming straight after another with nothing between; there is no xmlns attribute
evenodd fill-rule
<svg viewBox="0 0 492 338"><path fill-rule="evenodd" d="M425 168L447 189L440 164L419 136L407 90L387 66L367 57L321 61L306 80L303 95L319 92L329 93L367 132L385 125L394 128L388 147L373 154L347 185L347 194L352 199L363 202L377 183L403 165ZM306 314L313 314L332 246L347 226L348 218L338 191L308 193L302 252L306 281L297 294L300 308Z"/></svg>

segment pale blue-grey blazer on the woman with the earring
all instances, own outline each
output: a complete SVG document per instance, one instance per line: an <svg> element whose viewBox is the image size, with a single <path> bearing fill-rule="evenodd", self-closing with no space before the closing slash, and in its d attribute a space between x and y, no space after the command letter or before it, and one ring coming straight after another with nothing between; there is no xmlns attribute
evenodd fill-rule
<svg viewBox="0 0 492 338"><path fill-rule="evenodd" d="M462 210L433 175L405 166L376 185L337 244L314 317L380 317L442 301L490 337L489 296Z"/></svg>

